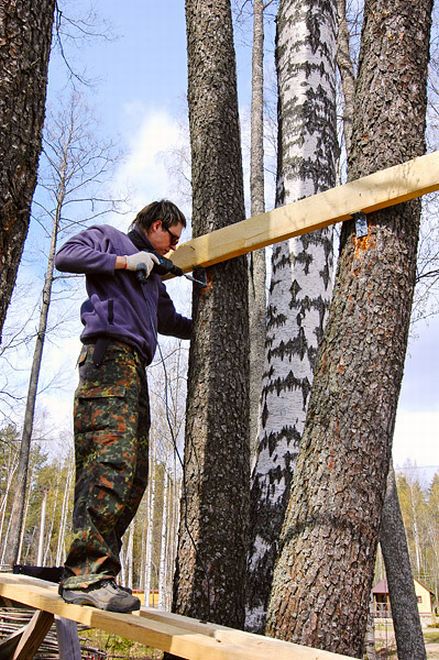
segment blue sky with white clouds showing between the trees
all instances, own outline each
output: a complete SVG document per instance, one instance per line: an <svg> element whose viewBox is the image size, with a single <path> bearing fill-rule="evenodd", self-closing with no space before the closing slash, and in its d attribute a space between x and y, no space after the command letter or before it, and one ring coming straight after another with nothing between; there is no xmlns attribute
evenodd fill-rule
<svg viewBox="0 0 439 660"><path fill-rule="evenodd" d="M95 31L105 32L106 38L94 37L75 44L66 36L64 44L69 66L77 74L86 70L84 77L93 83L77 84L77 87L98 118L98 130L114 139L124 153L112 185L118 190L129 188L133 213L149 200L170 197L190 214L187 195L169 173L170 151L187 149L182 129L187 83L184 2L94 0L92 5L98 23L103 26ZM74 19L69 12L79 16L90 3L77 0L65 2L64 6L67 18ZM247 32L244 28L237 33L239 104L244 118L249 113L250 51L245 42L250 43L250 37L249 24ZM56 108L66 95L67 77L67 67L59 51L54 51L49 107ZM246 129L243 139L246 140ZM267 198L267 208L272 206ZM130 215L114 217L111 222L125 228L130 218ZM31 244L32 233L29 241ZM32 259L25 259L23 279L29 274L26 268L35 266L31 262ZM171 295L175 296L179 310L189 313L190 285L186 284L172 284ZM39 286L37 281L34 286ZM78 301L72 301L71 305L78 306ZM20 313L16 305L13 314ZM69 428L76 386L80 326L77 323L72 328L62 338L48 342L45 349L46 371L58 369L62 377L56 388L42 393L41 401L51 411L60 433ZM417 324L415 334L409 343L402 384L394 462L407 474L428 478L432 469L439 469L439 319Z"/></svg>

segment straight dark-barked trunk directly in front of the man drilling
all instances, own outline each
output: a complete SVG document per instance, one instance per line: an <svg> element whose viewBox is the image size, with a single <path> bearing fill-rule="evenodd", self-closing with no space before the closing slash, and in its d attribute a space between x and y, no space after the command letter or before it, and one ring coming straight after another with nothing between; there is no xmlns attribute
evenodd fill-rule
<svg viewBox="0 0 439 660"><path fill-rule="evenodd" d="M244 217L229 0L186 0L192 227ZM248 276L245 258L194 289L174 610L240 627L249 482Z"/></svg>

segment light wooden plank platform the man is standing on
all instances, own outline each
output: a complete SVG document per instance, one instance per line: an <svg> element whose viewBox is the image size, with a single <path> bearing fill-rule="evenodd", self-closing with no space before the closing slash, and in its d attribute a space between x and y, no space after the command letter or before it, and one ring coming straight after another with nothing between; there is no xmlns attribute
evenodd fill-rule
<svg viewBox="0 0 439 660"><path fill-rule="evenodd" d="M0 573L0 596L36 610L30 624L20 631L19 644L15 644L13 654L4 653L7 645L11 645L9 638L0 643L0 658L32 658L54 615L192 660L347 658L151 608L142 608L134 614L117 614L93 607L68 605L58 596L56 584L26 575Z"/></svg>

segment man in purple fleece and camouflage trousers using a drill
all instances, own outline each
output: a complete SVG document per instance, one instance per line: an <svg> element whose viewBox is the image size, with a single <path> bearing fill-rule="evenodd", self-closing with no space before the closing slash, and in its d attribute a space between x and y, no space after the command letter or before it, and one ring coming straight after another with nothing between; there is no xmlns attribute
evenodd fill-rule
<svg viewBox="0 0 439 660"><path fill-rule="evenodd" d="M158 259L151 250L160 255L175 250L185 226L172 202L153 202L138 213L128 234L109 225L91 227L56 255L58 270L85 273L88 293L81 307L85 327L75 393L73 542L59 588L68 603L114 612L140 607L115 577L122 536L147 483L145 367L157 332L189 339L192 327L154 272Z"/></svg>

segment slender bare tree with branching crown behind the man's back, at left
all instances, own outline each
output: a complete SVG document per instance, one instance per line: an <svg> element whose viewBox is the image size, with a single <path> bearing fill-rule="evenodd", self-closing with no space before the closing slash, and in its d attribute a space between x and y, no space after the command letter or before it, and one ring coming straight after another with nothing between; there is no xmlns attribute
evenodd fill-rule
<svg viewBox="0 0 439 660"><path fill-rule="evenodd" d="M6 563L17 561L24 516L24 494L27 487L35 405L38 392L44 342L54 283L54 260L60 232L90 223L110 211L117 210L115 200L105 196L104 180L114 164L111 144L100 143L94 137L90 123L79 98L74 95L67 108L61 108L52 117L45 131L44 166L40 187L45 197L39 197L34 206L38 221L45 224L50 236L47 268L40 304L39 326L35 341L29 377L19 465L16 475L16 497L12 509L12 528L6 553ZM72 207L79 210L72 212ZM87 208L88 207L88 208ZM81 213L80 220L75 220Z"/></svg>

